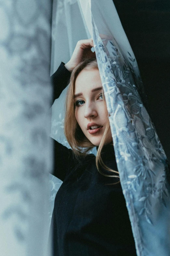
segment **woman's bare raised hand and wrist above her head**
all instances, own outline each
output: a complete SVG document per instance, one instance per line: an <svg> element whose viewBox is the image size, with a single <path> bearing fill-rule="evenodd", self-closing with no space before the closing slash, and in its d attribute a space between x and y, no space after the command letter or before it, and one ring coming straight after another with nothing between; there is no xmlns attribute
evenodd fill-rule
<svg viewBox="0 0 170 256"><path fill-rule="evenodd" d="M95 52L91 51L92 47L92 38L78 41L71 59L65 64L66 69L71 72L84 58L95 58Z"/></svg>

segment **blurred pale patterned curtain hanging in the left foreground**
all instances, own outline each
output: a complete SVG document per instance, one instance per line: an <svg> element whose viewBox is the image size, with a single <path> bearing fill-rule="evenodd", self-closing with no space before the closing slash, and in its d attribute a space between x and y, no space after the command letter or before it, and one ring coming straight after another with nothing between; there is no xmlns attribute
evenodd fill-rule
<svg viewBox="0 0 170 256"><path fill-rule="evenodd" d="M0 1L0 255L49 256L51 1Z"/></svg>

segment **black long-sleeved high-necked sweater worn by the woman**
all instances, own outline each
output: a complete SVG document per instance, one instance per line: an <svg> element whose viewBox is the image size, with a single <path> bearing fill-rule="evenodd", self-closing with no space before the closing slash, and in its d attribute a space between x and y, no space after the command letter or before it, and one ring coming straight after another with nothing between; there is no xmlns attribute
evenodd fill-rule
<svg viewBox="0 0 170 256"><path fill-rule="evenodd" d="M52 75L54 100L69 82L71 73L61 62ZM105 177L90 154L77 161L71 149L54 140L54 173L63 181L52 214L53 256L135 256L135 242L118 178ZM117 169L114 148L106 145L103 162ZM102 169L105 174L110 172Z"/></svg>

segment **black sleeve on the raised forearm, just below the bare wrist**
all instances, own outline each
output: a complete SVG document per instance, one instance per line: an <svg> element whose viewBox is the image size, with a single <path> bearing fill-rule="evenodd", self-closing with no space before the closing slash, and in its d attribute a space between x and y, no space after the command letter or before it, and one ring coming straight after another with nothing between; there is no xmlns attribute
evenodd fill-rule
<svg viewBox="0 0 170 256"><path fill-rule="evenodd" d="M53 101L59 98L60 94L67 87L70 81L71 72L66 69L64 62L61 62L57 71L50 77L53 85Z"/></svg>

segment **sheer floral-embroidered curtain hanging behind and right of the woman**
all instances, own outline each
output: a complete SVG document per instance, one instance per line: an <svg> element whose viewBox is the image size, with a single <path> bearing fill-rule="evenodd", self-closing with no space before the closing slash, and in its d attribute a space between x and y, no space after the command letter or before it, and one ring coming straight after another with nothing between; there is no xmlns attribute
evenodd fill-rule
<svg viewBox="0 0 170 256"><path fill-rule="evenodd" d="M92 37L94 42L137 255L168 256L169 164L147 111L147 97L138 65L115 6L112 0L63 0L58 1L58 5L55 26L53 24L53 31L56 29L58 36L53 33L52 44L56 60L66 63L79 39ZM81 22L72 23L76 18ZM68 40L63 41L63 38ZM61 51L55 45L61 45ZM67 53L66 48L69 49ZM59 62L53 59L52 73ZM65 144L59 132L64 118L59 101L64 101L64 94L53 106L51 136Z"/></svg>

